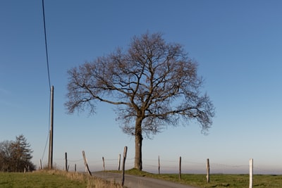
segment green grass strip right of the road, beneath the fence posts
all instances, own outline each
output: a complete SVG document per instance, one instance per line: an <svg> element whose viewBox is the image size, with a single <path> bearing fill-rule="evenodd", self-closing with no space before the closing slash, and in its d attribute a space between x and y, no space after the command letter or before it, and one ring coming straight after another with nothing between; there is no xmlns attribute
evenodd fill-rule
<svg viewBox="0 0 282 188"><path fill-rule="evenodd" d="M126 174L140 175L143 177L152 177L181 184L188 184L200 188L242 188L249 187L249 175L226 175L226 174L211 174L209 175L209 183L207 183L206 175L199 174L182 174L179 180L178 174L152 174L136 169L125 171ZM126 180L125 180L126 181ZM253 187L282 187L282 175L253 175Z"/></svg>

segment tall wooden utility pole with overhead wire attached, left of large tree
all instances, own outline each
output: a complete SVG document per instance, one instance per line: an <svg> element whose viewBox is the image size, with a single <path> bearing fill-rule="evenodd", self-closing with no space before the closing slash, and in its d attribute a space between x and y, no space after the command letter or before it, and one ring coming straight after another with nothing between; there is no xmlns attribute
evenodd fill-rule
<svg viewBox="0 0 282 188"><path fill-rule="evenodd" d="M54 123L54 86L51 87L50 100L50 137L49 137L49 169L53 168L53 123Z"/></svg>

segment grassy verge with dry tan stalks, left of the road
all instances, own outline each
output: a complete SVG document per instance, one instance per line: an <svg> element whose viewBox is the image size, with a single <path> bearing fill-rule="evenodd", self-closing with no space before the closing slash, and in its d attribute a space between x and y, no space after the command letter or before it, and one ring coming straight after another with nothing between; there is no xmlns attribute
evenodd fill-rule
<svg viewBox="0 0 282 188"><path fill-rule="evenodd" d="M39 170L33 173L0 173L0 187L120 188L121 185L82 173L67 173L61 170Z"/></svg>

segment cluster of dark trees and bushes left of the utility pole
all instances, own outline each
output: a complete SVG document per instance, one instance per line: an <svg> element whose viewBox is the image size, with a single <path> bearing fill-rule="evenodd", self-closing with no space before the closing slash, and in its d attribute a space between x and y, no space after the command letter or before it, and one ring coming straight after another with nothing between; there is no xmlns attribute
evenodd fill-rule
<svg viewBox="0 0 282 188"><path fill-rule="evenodd" d="M24 172L35 170L31 162L32 149L27 139L20 134L16 141L0 142L0 171L1 172Z"/></svg>

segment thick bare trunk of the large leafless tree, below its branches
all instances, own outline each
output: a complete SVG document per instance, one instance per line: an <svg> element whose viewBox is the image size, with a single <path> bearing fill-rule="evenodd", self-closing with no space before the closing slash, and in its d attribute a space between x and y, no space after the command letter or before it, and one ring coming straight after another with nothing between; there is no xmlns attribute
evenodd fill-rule
<svg viewBox="0 0 282 188"><path fill-rule="evenodd" d="M134 168L142 170L142 118L135 123L135 163Z"/></svg>

